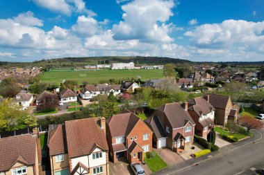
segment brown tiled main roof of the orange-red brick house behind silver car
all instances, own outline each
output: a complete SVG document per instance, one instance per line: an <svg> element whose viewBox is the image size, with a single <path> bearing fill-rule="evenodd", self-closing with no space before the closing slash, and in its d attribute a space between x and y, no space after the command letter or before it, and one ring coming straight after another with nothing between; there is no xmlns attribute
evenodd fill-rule
<svg viewBox="0 0 264 175"><path fill-rule="evenodd" d="M119 113L106 120L112 137L128 136L135 124L140 120L131 112Z"/></svg>

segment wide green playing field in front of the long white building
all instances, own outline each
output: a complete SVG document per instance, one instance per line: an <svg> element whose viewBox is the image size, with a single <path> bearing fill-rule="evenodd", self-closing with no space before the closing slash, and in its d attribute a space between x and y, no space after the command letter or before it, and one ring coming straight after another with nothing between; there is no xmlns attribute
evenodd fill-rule
<svg viewBox="0 0 264 175"><path fill-rule="evenodd" d="M126 79L140 77L141 80L158 79L163 77L163 70L158 69L138 69L138 70L110 70L101 69L99 71L70 71L69 69L53 68L41 75L42 82L52 82L60 84L63 80L77 80L79 84L86 81L88 84L98 84L100 80Z"/></svg>

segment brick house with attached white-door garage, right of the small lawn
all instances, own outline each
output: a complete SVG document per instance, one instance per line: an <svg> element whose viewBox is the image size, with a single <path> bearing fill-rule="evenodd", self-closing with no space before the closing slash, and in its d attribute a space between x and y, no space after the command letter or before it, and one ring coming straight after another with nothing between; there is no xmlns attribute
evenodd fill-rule
<svg viewBox="0 0 264 175"><path fill-rule="evenodd" d="M165 104L145 120L154 131L154 147L168 147L179 151L186 145L192 145L195 122L188 113L188 102L182 105L178 102Z"/></svg>

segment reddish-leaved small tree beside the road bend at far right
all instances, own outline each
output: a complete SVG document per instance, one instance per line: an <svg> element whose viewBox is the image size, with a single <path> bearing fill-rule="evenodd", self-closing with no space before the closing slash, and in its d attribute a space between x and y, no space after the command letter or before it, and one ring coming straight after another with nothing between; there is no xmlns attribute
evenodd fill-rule
<svg viewBox="0 0 264 175"><path fill-rule="evenodd" d="M250 129L263 128L263 122L257 120L256 118L251 118L250 116L242 116L238 122L241 126L247 128L247 133L249 133Z"/></svg>

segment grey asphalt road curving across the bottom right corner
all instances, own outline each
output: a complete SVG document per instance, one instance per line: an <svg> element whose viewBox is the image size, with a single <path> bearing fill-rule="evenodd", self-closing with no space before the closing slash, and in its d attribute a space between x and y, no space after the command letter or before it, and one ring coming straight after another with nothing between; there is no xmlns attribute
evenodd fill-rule
<svg viewBox="0 0 264 175"><path fill-rule="evenodd" d="M204 156L186 161L181 165L174 165L163 169L156 174L166 175L222 175L222 174L256 174L250 168L258 165L264 160L264 129L254 131L252 138L247 138L236 144L228 145L212 153L211 156ZM264 164L263 164L264 165ZM264 167L264 166L263 166Z"/></svg>

